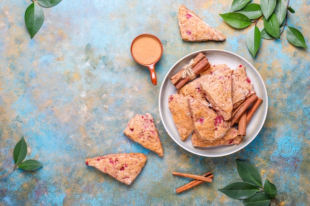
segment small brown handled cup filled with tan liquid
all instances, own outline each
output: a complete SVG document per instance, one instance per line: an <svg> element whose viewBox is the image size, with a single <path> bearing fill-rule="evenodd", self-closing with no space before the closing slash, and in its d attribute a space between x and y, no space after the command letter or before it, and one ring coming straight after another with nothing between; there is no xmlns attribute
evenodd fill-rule
<svg viewBox="0 0 310 206"><path fill-rule="evenodd" d="M157 83L155 64L162 56L161 41L151 34L142 34L136 37L130 47L132 58L139 64L149 68L151 81Z"/></svg>

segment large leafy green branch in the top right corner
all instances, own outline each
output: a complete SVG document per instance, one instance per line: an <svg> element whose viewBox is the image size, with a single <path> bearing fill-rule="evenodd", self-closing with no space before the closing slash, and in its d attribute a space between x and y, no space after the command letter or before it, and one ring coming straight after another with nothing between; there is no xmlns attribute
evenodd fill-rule
<svg viewBox="0 0 310 206"><path fill-rule="evenodd" d="M260 0L250 3L251 0L233 0L229 13L219 14L224 21L236 29L244 29L254 25L246 35L246 44L252 56L258 52L261 39L279 39L285 27L286 38L294 46L308 48L302 33L288 26L288 12L295 13L289 6L290 0ZM258 29L257 23L263 21L264 28Z"/></svg>

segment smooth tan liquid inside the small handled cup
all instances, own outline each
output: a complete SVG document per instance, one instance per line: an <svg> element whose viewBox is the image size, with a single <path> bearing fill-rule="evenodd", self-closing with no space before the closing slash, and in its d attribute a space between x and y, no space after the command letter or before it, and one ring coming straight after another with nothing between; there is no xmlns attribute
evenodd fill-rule
<svg viewBox="0 0 310 206"><path fill-rule="evenodd" d="M136 39L131 48L134 59L140 64L151 65L161 55L161 43L152 36L141 36Z"/></svg>

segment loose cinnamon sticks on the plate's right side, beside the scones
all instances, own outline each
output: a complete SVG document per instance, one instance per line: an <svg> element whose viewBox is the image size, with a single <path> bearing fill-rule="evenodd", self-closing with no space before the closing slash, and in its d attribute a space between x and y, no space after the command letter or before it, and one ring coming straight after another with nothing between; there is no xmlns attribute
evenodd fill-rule
<svg viewBox="0 0 310 206"><path fill-rule="evenodd" d="M230 125L233 126L238 121L238 135L246 135L246 127L261 102L262 99L253 94L233 112ZM252 107L250 108L251 105ZM249 108L250 110L247 111Z"/></svg>

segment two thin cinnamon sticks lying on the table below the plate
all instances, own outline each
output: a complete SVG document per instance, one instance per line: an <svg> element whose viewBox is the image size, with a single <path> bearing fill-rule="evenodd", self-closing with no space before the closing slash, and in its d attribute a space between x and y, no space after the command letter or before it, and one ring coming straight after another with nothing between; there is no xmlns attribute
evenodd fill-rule
<svg viewBox="0 0 310 206"><path fill-rule="evenodd" d="M186 190L189 190L197 185L200 185L204 182L212 182L212 178L213 178L213 174L212 172L208 172L204 175L195 175L195 174L187 174L187 173L180 173L180 172L172 172L173 175L176 176L181 176L181 177L188 177L188 178L192 178L195 179L185 185L183 185L182 187L179 187L175 190L176 193L181 193L184 192Z"/></svg>

